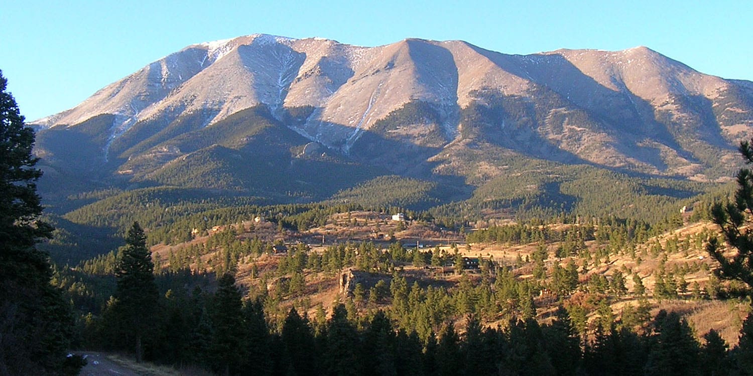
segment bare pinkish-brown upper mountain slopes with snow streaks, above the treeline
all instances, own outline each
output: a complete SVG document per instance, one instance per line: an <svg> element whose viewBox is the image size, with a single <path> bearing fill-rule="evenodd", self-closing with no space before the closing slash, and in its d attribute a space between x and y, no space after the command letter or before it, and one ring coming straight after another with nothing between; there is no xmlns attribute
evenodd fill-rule
<svg viewBox="0 0 753 376"><path fill-rule="evenodd" d="M424 102L438 113L446 141L459 137L461 111L468 106L504 103L508 107L499 110L505 115L492 128L505 135L532 135L521 133L516 143L539 137L579 158L620 167L616 161L633 158L633 144L599 148L609 154L602 158L602 152L593 151L596 141L586 142L577 137L578 132L598 128L598 132L607 129L618 135L627 129L633 132L630 137L652 138L663 128L657 126L659 111L675 120L698 120L703 123L699 129L711 134L716 132L715 123L704 119L715 115L704 118L701 113L706 110L694 104L708 101L715 106L714 101L732 86L741 91L734 95L747 98L751 85L700 74L645 47L520 56L462 41L407 39L380 47L356 47L324 38L248 35L188 46L106 86L77 107L33 124L76 126L99 114L113 114L103 150L107 159L112 142L139 120L160 119L144 125L169 126L182 114L201 111L200 117L191 117L199 122L192 125L195 129L265 105L280 121L288 121L288 111L306 114L305 120L286 125L309 140L357 156L354 148L364 132L409 102ZM736 114L748 114L744 103L727 106L727 113L734 109ZM542 123L538 120L542 114L556 116ZM526 129L517 129L520 124L526 124ZM742 125L735 135L753 129L747 118L722 126L737 124ZM398 127L400 142L438 146L443 142L438 138L427 141L427 132L410 129L416 124ZM660 141L671 137L662 132ZM608 142L617 144L617 139Z"/></svg>

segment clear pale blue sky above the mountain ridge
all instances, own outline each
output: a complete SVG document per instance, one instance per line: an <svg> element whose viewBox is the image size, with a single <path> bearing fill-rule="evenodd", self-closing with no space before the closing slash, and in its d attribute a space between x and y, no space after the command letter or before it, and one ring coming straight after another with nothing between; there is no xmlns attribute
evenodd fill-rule
<svg viewBox="0 0 753 376"><path fill-rule="evenodd" d="M361 46L460 39L502 53L642 45L703 73L753 80L751 20L750 0L8 0L0 69L27 120L189 44L255 33Z"/></svg>

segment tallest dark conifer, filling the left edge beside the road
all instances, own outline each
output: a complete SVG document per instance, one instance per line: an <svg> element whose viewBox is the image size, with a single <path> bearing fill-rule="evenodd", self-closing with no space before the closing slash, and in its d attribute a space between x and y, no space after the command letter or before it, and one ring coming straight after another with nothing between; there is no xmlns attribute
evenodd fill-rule
<svg viewBox="0 0 753 376"><path fill-rule="evenodd" d="M0 374L64 374L72 315L35 247L52 227L38 220L34 131L7 85L0 71Z"/></svg>

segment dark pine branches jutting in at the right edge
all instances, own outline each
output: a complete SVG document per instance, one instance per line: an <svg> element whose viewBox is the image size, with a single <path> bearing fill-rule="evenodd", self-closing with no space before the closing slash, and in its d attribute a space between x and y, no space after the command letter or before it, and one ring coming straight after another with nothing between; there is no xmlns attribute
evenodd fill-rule
<svg viewBox="0 0 753 376"><path fill-rule="evenodd" d="M753 163L750 142L742 141L739 150L746 165ZM750 168L741 168L737 173L734 202L714 205L712 214L714 223L721 227L724 241L736 248L734 255L727 256L716 237L709 238L706 250L720 265L715 273L722 279L741 280L748 289L753 288L753 229L750 226L753 223L753 171Z"/></svg>

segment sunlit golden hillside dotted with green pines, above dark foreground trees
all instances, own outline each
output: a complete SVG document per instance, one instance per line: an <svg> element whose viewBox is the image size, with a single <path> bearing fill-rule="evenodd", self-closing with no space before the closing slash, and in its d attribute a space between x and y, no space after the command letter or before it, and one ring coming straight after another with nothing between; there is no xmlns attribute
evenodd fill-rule
<svg viewBox="0 0 753 376"><path fill-rule="evenodd" d="M346 302L354 317L383 309L395 326L422 339L448 320L462 326L467 314L484 326L506 326L510 319L525 317L526 299L542 323L565 307L588 341L604 320L640 332L666 309L689 320L697 338L715 329L736 344L748 313L738 298L741 286L712 274L716 265L704 246L714 228L705 221L653 236L636 235L620 223L518 223L473 232L466 243L459 233L431 223L396 222L373 211L331 212L300 231L247 218L185 242L155 245L160 278L231 270L246 296L264 299L267 318L278 328L291 307L317 317ZM518 235L489 238L503 232ZM388 234L392 240L382 236ZM409 245L416 241L421 248ZM277 253L274 244L288 248ZM456 268L462 256L479 259L480 268ZM106 275L113 261L114 254L98 257L75 270ZM357 273L364 276L361 287L342 290L341 273L349 270L366 274ZM76 278L86 280L71 276L66 283ZM385 281L381 287L379 280ZM406 299L413 298L402 302L401 288ZM108 296L95 290L88 290L102 294L95 299ZM410 308L404 311L402 304ZM425 311L435 304L442 308Z"/></svg>

